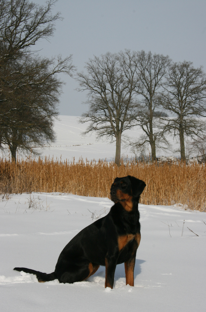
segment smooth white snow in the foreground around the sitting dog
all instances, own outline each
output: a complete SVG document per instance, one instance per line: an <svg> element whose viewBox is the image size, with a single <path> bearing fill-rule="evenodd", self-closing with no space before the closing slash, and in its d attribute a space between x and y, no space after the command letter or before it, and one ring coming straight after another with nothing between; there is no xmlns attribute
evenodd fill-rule
<svg viewBox="0 0 206 312"><path fill-rule="evenodd" d="M104 216L111 205L108 198L45 193L12 195L1 201L0 311L205 311L204 212L139 205L142 239L134 287L125 286L123 264L116 268L110 292L104 288L104 267L74 284L38 283L34 275L12 270L26 266L54 271L63 247L94 222L91 212Z"/></svg>

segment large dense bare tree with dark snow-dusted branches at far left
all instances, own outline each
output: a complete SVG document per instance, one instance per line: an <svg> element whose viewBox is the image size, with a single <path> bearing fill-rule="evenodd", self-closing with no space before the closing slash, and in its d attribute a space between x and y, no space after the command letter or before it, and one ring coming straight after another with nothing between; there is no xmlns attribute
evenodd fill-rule
<svg viewBox="0 0 206 312"><path fill-rule="evenodd" d="M27 0L0 2L0 145L9 147L14 161L17 149L28 151L55 139L63 85L57 75L74 69L72 56L49 59L30 50L53 35L60 18L51 12L55 2L45 7Z"/></svg>

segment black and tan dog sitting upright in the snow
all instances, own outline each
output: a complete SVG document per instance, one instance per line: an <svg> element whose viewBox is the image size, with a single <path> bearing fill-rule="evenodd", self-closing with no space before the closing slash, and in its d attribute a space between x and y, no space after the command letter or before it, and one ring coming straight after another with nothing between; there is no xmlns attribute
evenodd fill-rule
<svg viewBox="0 0 206 312"><path fill-rule="evenodd" d="M53 273L27 268L14 270L35 274L39 282L58 279L60 283L74 283L87 279L99 266L105 266L105 287L113 288L116 265L124 262L126 285L133 286L141 238L138 201L145 185L131 176L115 178L110 189L115 204L110 212L73 237L60 253Z"/></svg>

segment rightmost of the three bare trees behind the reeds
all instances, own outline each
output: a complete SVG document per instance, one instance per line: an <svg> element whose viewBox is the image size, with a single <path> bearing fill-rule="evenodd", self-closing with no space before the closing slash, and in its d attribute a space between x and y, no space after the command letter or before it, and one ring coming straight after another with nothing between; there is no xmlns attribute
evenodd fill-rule
<svg viewBox="0 0 206 312"><path fill-rule="evenodd" d="M197 117L206 115L206 76L192 62L173 63L163 84L162 107L172 113L169 131L179 136L181 160L185 160L185 135L205 134L206 125Z"/></svg>

